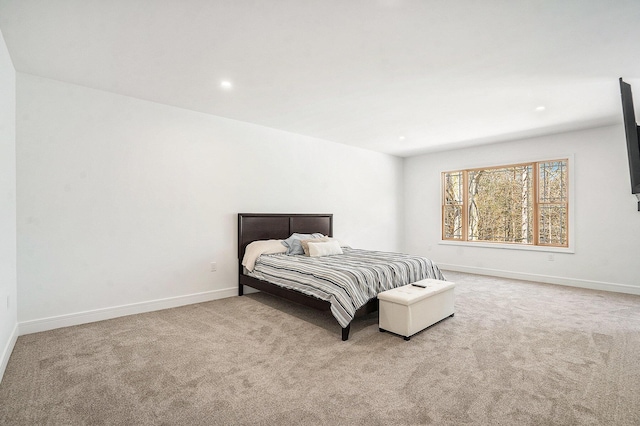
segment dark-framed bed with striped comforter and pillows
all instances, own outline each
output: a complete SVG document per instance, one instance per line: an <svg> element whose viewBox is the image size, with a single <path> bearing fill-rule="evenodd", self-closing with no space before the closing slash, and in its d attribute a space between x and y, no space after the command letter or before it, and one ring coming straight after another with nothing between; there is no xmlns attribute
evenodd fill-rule
<svg viewBox="0 0 640 426"><path fill-rule="evenodd" d="M353 318L377 310L377 291L409 284L423 278L444 279L437 266L428 259L397 253L363 251L350 247L343 247L343 255L341 256L327 256L322 258L322 262L325 264L322 268L325 269L317 269L321 267L317 263L318 258L286 256L284 254L260 256L258 263L261 263L261 265L256 264L256 271L249 272L247 268L242 265L247 247L249 246L249 249L252 250L256 245L253 244L250 246L251 243L255 241L285 240L294 233L320 233L332 237L333 215L280 213L238 214L238 295L242 296L244 294L244 286L248 286L305 306L330 311L342 328L342 340L348 340L351 320ZM392 259L387 262L387 257L385 256L392 256ZM377 262L375 267L376 274L392 274L399 275L399 277L394 278L393 283L384 284L384 288L369 288L368 286L373 287L370 282L371 280L367 277L362 277L361 268L359 268L360 259L364 261L365 258L367 258L367 262ZM291 261L294 261L294 264L285 263ZM404 270L407 264L416 262L419 264L417 271L397 273L399 268ZM353 263L353 267L360 271L358 272L360 274L358 275L359 278L353 278L357 274L352 272L355 270L348 269L348 267L350 267L348 264L350 263ZM258 266L262 269L258 270ZM271 273L278 270L286 273L283 272L282 277ZM296 271L298 276L291 278L290 275L293 273L293 270ZM316 271L320 272L316 273ZM302 278L298 277L316 275L315 279L317 279L318 274L328 274L322 275L322 277L328 278L327 281L333 280L333 276L336 274L342 279L350 276L352 278L349 279L353 281L352 285L361 287L358 291L364 290L364 296L360 293L353 293L353 291L355 291L353 289L349 289L351 292L340 290L342 288L340 286L344 286L345 282L339 280L332 283L332 285L338 286L336 287L338 289L337 293L333 295L329 295L329 293L322 289L310 290L310 287L306 287L306 284L298 283L299 279L302 280ZM331 275L331 277L329 277L329 275ZM293 279L293 281L290 281L291 279ZM358 281L357 284L356 281ZM364 283L365 281L369 282ZM349 298L351 297L357 298L357 300L350 300ZM345 309L346 305L349 305L348 309Z"/></svg>

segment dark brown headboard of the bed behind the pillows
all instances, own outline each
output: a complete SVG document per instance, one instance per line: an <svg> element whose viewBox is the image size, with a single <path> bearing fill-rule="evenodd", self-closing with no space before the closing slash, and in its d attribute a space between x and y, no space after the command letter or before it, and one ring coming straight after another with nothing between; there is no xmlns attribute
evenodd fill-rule
<svg viewBox="0 0 640 426"><path fill-rule="evenodd" d="M294 232L333 236L333 214L238 213L238 259L256 240L284 240Z"/></svg>

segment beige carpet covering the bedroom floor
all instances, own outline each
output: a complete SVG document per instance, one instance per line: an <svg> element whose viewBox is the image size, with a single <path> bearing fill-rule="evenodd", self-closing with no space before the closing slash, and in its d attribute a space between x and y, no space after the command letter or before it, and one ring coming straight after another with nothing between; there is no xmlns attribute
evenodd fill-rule
<svg viewBox="0 0 640 426"><path fill-rule="evenodd" d="M640 424L640 297L447 277L409 342L264 294L22 336L0 424Z"/></svg>

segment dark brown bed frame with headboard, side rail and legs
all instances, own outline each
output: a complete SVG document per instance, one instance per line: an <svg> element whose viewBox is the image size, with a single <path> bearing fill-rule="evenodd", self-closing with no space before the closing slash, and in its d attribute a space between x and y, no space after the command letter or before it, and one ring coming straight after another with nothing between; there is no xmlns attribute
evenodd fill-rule
<svg viewBox="0 0 640 426"><path fill-rule="evenodd" d="M242 258L249 243L256 240L284 240L294 232L301 234L320 232L332 237L333 214L238 213L238 296L244 294L246 285L304 306L329 311L331 304L326 300L243 274ZM365 315L374 312L378 308L377 302L377 298L373 298L360 308L357 314ZM349 339L350 329L350 323L342 328L342 340Z"/></svg>

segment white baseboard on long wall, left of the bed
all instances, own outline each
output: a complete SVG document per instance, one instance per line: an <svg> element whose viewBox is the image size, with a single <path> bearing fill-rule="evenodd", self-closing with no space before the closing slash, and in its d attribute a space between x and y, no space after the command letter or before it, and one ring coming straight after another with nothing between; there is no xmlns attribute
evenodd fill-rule
<svg viewBox="0 0 640 426"><path fill-rule="evenodd" d="M132 303L130 305L113 306L110 308L23 321L18 323L18 330L19 335L23 336L25 334L39 333L41 331L54 330L56 328L70 327L73 325L87 324L96 321L104 321L127 315L159 311L162 309L177 308L179 306L191 305L193 303L209 302L211 300L224 299L226 297L237 295L237 287L224 290L206 291L203 293L195 293L184 296L169 297L166 299Z"/></svg>

